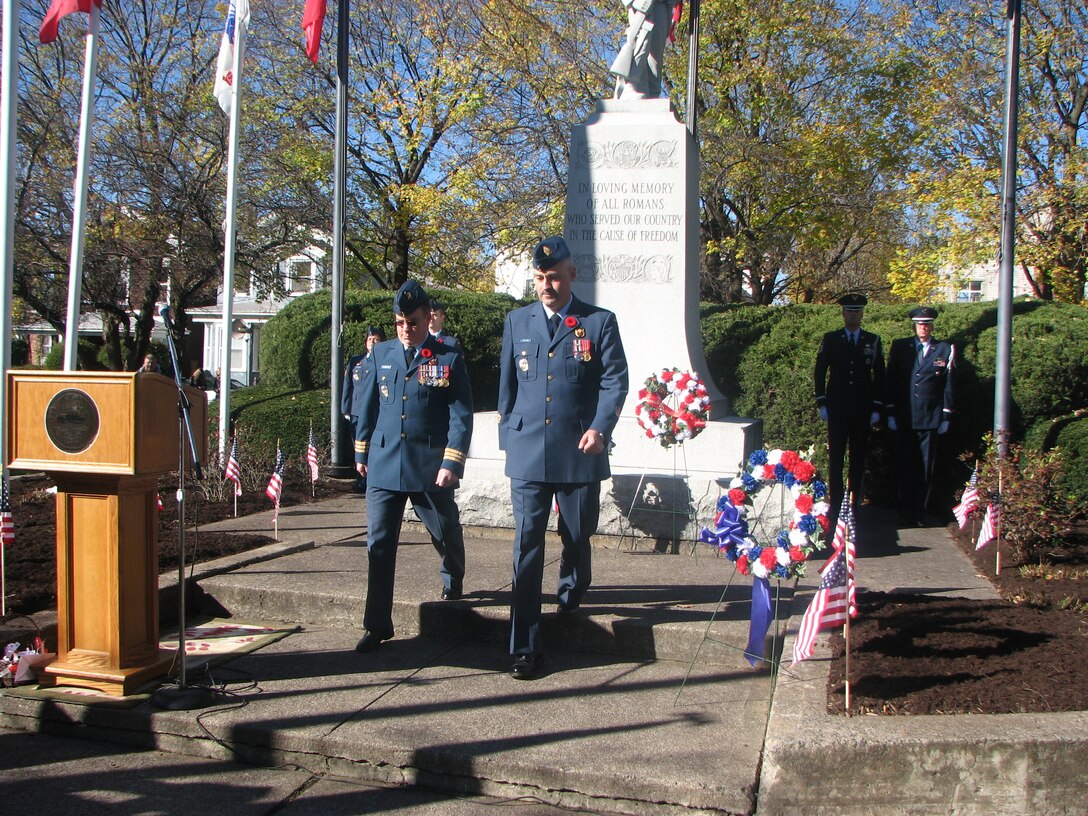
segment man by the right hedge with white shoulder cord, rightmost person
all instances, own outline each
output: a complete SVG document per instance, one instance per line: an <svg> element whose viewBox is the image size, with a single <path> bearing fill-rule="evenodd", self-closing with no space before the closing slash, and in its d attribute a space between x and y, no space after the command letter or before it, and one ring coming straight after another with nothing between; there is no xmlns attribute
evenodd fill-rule
<svg viewBox="0 0 1088 816"><path fill-rule="evenodd" d="M934 480L937 437L952 419L955 347L935 339L937 310L911 311L914 336L893 341L888 353L888 428L895 432L899 509L904 524L925 524Z"/></svg>

